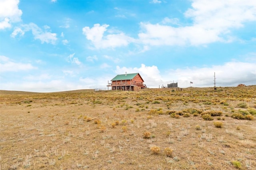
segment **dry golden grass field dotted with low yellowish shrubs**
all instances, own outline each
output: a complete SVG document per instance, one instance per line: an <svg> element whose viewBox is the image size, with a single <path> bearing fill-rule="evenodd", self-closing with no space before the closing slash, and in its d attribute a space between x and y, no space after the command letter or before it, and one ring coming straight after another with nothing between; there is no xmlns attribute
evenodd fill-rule
<svg viewBox="0 0 256 170"><path fill-rule="evenodd" d="M0 170L15 169L255 170L256 86L1 90Z"/></svg>

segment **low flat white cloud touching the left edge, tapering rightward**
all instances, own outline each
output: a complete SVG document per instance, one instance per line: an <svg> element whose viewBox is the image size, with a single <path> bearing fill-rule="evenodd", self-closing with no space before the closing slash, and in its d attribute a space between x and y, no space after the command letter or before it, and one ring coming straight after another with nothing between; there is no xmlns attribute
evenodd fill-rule
<svg viewBox="0 0 256 170"><path fill-rule="evenodd" d="M16 63L6 56L0 55L0 72L16 72L36 69L30 63Z"/></svg>

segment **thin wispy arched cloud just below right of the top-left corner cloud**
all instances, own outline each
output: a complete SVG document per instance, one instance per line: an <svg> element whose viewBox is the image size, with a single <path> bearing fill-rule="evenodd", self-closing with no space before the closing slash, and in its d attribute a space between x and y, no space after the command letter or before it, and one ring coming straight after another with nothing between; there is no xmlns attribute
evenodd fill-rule
<svg viewBox="0 0 256 170"><path fill-rule="evenodd" d="M47 26L47 25L46 25ZM50 27L47 26L47 29ZM39 39L41 43L51 43L56 44L57 34L51 33L48 31L43 31L40 27L38 27L35 23L29 23L21 25L20 27L16 27L16 29L12 32L11 37L15 38L18 34L24 35L25 32L32 30L32 34L34 35L34 39Z"/></svg>

